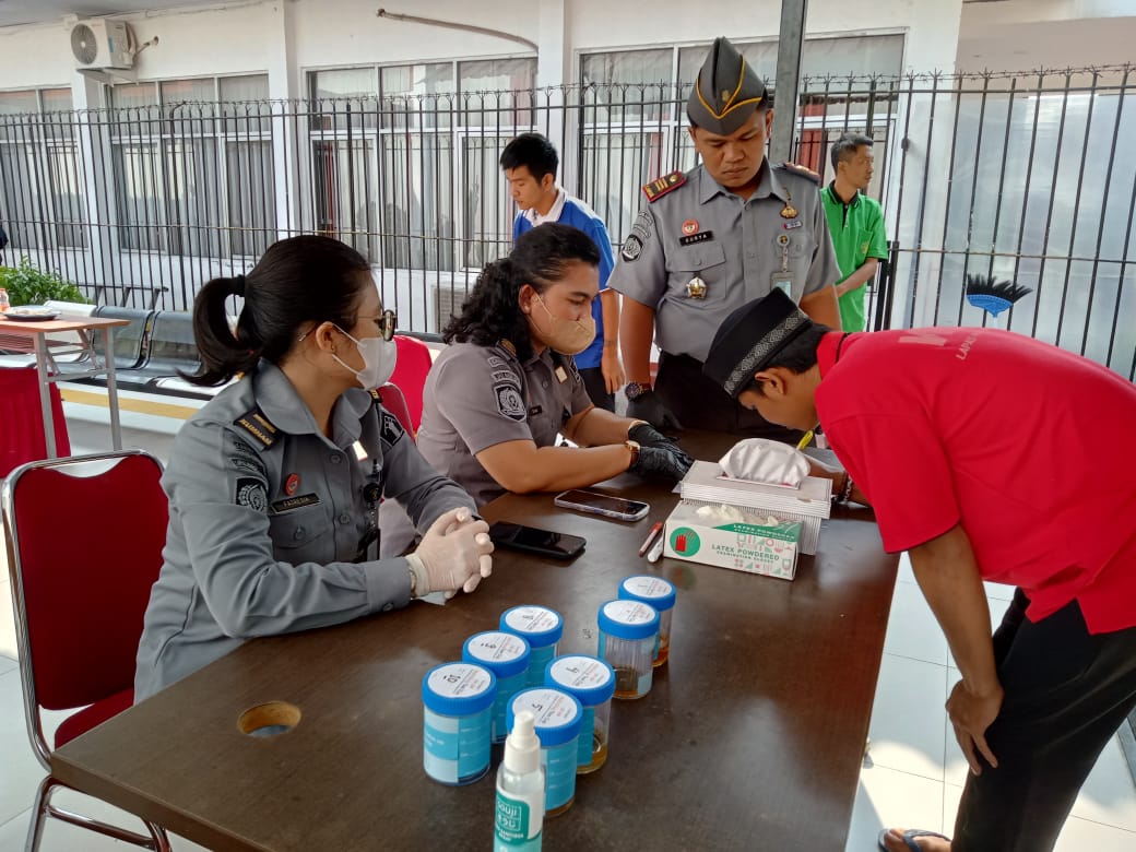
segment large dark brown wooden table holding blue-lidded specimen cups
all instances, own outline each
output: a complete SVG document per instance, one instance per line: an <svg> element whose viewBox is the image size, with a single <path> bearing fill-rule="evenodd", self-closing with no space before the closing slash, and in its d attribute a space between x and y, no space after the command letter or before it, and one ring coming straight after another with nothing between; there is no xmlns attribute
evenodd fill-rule
<svg viewBox="0 0 1136 852"><path fill-rule="evenodd" d="M684 437L701 458L724 438ZM507 519L584 535L568 565L499 551L493 576L444 608L249 642L55 752L66 784L219 850L486 850L494 776L445 787L421 766L420 685L500 613L543 603L565 618L561 652L593 652L595 612L630 574L678 587L669 663L640 701L612 708L611 752L545 825L557 850L843 850L883 651L896 559L871 515L825 523L793 582L636 557L677 500L636 524L579 516L552 495L507 495ZM237 717L287 701L291 732L249 737Z"/></svg>

